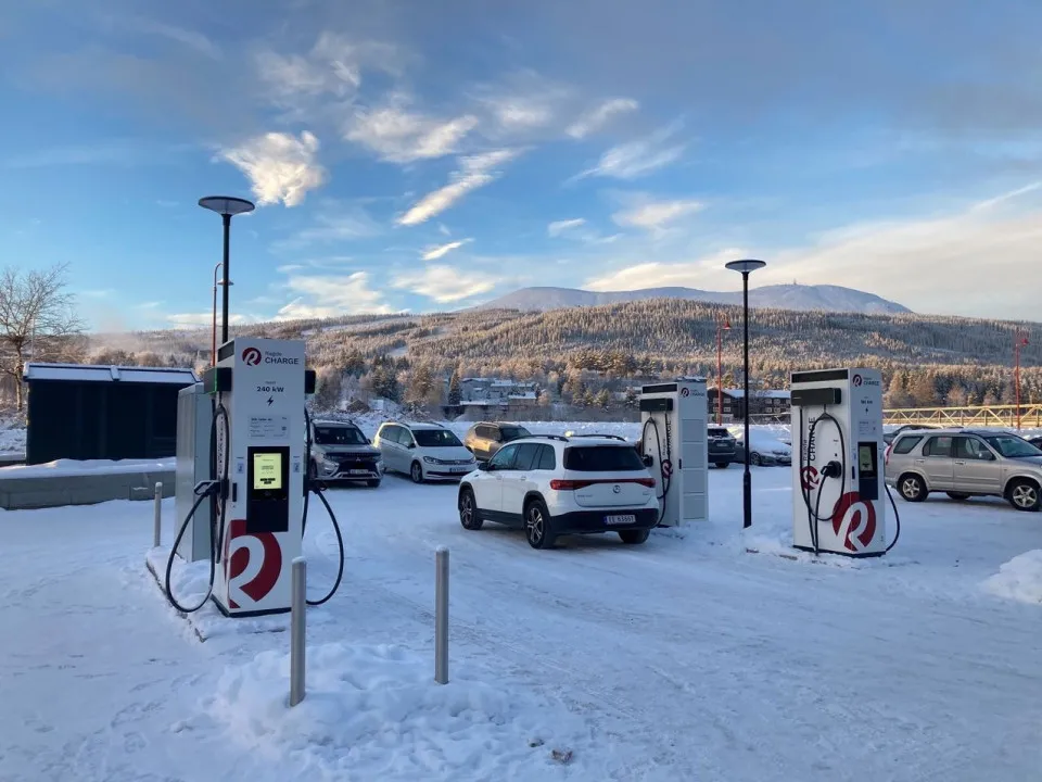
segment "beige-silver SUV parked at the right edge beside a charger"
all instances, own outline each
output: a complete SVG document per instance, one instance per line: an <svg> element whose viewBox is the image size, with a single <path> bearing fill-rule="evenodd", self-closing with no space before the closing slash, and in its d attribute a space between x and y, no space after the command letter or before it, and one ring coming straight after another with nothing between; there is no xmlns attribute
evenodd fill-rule
<svg viewBox="0 0 1042 782"><path fill-rule="evenodd" d="M908 502L1001 496L1018 510L1042 507L1042 450L1017 434L980 429L902 432L884 457L887 483Z"/></svg>

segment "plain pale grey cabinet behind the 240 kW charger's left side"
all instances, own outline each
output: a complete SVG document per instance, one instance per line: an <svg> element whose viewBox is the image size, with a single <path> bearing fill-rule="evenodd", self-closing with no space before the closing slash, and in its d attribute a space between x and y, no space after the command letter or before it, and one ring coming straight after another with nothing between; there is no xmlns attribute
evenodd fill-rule
<svg viewBox="0 0 1042 782"><path fill-rule="evenodd" d="M211 428L214 419L213 399L203 383L182 388L177 395L177 471L175 474L176 522L179 527L195 502L195 484L211 478ZM211 520L215 503L207 497L200 503L192 522L177 547L188 562L208 559Z"/></svg>

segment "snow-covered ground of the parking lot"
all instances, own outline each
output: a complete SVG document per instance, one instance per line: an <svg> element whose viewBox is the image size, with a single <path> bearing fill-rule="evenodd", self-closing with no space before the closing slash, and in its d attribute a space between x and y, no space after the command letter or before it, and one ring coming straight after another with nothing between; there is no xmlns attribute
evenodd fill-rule
<svg viewBox="0 0 1042 782"><path fill-rule="evenodd" d="M0 779L1038 779L1042 606L992 577L1037 572L1016 557L1042 548L1042 516L899 501L886 558L787 558L772 552L788 554L789 480L753 468L746 533L733 468L710 471L703 526L549 552L463 530L452 485L331 490L347 565L308 611L309 694L292 711L287 633L213 619L200 643L167 606L144 567L151 505L0 513ZM313 507L319 594L336 544ZM173 500L164 513L168 545ZM198 572L182 576L188 600Z"/></svg>

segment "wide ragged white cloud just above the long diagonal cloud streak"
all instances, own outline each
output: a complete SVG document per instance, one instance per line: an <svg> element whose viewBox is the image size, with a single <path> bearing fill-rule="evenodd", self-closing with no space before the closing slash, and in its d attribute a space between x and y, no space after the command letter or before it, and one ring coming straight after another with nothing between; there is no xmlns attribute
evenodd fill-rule
<svg viewBox="0 0 1042 782"><path fill-rule="evenodd" d="M456 152L463 137L478 126L478 117L470 114L435 119L409 112L408 102L396 96L379 109L356 109L344 138L367 147L381 160L412 163Z"/></svg>

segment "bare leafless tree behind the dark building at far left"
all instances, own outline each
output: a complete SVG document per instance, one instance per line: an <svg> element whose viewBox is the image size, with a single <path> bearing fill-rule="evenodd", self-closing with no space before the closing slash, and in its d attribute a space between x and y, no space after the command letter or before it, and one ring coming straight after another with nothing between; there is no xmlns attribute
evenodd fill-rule
<svg viewBox="0 0 1042 782"><path fill-rule="evenodd" d="M0 373L14 381L17 407L25 403L25 362L79 361L84 323L66 288L68 267L5 268L0 272Z"/></svg>

